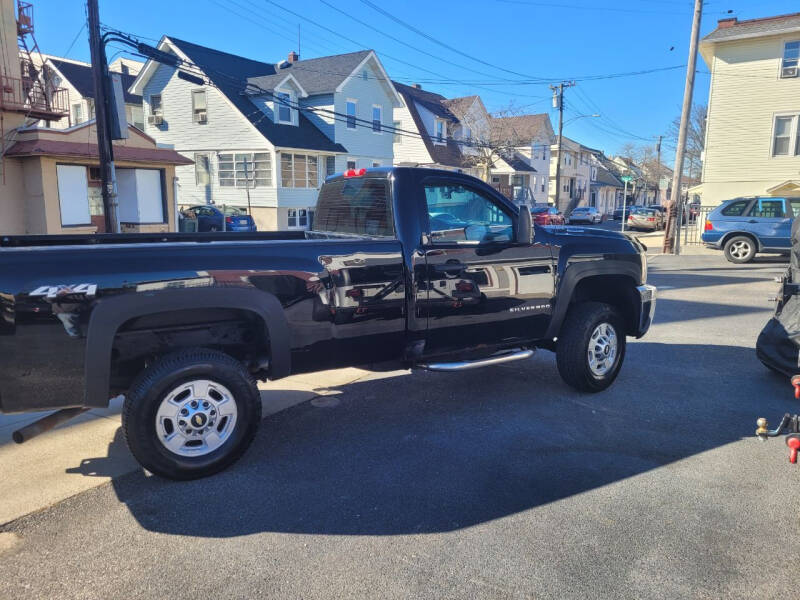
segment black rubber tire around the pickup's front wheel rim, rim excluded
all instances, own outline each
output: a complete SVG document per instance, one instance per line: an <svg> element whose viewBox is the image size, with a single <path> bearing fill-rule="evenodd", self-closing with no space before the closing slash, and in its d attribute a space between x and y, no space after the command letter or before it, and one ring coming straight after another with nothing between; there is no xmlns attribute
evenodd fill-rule
<svg viewBox="0 0 800 600"><path fill-rule="evenodd" d="M616 357L609 370L601 375L589 365L589 340L602 323L616 335ZM556 365L565 383L581 392L601 392L614 383L625 360L625 326L617 309L601 302L583 302L573 306L561 327L556 344Z"/></svg>

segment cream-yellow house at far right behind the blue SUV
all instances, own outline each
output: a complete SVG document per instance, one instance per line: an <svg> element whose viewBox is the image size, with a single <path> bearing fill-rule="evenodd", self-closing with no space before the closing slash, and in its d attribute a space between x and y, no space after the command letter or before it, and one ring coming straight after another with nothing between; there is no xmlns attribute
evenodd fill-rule
<svg viewBox="0 0 800 600"><path fill-rule="evenodd" d="M707 205L800 196L800 13L722 19L700 42L711 71L701 183Z"/></svg>

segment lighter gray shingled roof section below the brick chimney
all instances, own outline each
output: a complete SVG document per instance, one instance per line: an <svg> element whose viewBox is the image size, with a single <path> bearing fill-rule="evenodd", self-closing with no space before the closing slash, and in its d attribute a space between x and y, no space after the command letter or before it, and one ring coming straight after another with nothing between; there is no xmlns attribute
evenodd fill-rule
<svg viewBox="0 0 800 600"><path fill-rule="evenodd" d="M321 58L283 63L273 75L249 77L248 82L265 90L273 90L291 73L309 96L332 93L360 65L371 50L336 54Z"/></svg>

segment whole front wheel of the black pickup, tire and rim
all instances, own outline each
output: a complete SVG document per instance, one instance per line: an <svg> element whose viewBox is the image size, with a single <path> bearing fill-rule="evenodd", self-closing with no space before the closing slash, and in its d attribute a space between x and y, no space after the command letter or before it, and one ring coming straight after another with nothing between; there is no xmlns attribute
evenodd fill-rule
<svg viewBox="0 0 800 600"><path fill-rule="evenodd" d="M567 314L556 345L561 378L581 392L600 392L614 383L625 359L625 327L617 309L584 302Z"/></svg>

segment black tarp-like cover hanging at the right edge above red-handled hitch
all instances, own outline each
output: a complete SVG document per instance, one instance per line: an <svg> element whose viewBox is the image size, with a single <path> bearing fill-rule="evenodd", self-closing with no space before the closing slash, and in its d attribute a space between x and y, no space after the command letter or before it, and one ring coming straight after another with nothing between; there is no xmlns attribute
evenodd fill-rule
<svg viewBox="0 0 800 600"><path fill-rule="evenodd" d="M792 223L791 262L786 271L782 298L756 342L756 354L765 365L785 375L800 373L800 218Z"/></svg>

